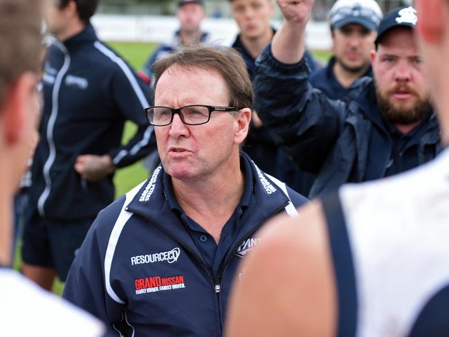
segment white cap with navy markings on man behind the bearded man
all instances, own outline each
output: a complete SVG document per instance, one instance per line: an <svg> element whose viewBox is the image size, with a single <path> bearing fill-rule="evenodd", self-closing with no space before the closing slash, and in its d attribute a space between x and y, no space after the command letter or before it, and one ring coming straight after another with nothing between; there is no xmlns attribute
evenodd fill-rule
<svg viewBox="0 0 449 337"><path fill-rule="evenodd" d="M376 30L381 19L382 10L375 0L338 0L329 12L332 29L360 24L368 30Z"/></svg>

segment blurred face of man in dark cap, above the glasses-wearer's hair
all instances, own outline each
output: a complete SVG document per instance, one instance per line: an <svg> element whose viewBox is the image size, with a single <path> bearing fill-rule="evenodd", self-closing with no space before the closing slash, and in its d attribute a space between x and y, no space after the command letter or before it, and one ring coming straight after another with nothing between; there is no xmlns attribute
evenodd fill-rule
<svg viewBox="0 0 449 337"><path fill-rule="evenodd" d="M201 21L205 17L203 1L181 0L178 2L177 17L181 32L186 34L199 33Z"/></svg>

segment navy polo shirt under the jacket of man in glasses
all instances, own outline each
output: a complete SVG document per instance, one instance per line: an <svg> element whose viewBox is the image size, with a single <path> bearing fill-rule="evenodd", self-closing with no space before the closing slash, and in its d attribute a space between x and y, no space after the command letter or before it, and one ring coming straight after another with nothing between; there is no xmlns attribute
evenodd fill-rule
<svg viewBox="0 0 449 337"><path fill-rule="evenodd" d="M235 208L230 219L228 219L226 224L223 226L218 245L207 230L185 214L174 195L172 180L165 171L163 174L165 196L167 197L170 208L178 213L185 229L190 234L190 237L192 237L196 247L200 251L201 257L203 257L206 266L210 268L214 275L218 275L221 262L226 256L226 253L230 250L232 243L235 242L235 238L239 233L241 218L244 214L244 210L250 206L250 201L253 197L253 173L251 171L250 164L248 161L241 158L240 167L244 172L245 177L244 194L242 195L239 205Z"/></svg>

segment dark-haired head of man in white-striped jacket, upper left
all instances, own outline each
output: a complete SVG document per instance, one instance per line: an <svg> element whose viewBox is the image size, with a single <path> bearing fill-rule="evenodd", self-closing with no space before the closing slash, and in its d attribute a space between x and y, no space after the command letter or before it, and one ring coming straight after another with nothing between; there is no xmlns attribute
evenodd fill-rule
<svg viewBox="0 0 449 337"><path fill-rule="evenodd" d="M49 33L60 40L89 24L99 0L46 0L45 21Z"/></svg>

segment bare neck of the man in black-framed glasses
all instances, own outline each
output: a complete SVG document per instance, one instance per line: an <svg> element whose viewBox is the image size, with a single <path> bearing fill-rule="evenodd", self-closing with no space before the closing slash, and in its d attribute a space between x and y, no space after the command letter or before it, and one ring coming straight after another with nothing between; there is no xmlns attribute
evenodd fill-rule
<svg viewBox="0 0 449 337"><path fill-rule="evenodd" d="M244 193L244 173L239 165L196 181L172 178L172 185L176 200L185 214L207 230L218 243L221 229Z"/></svg>

